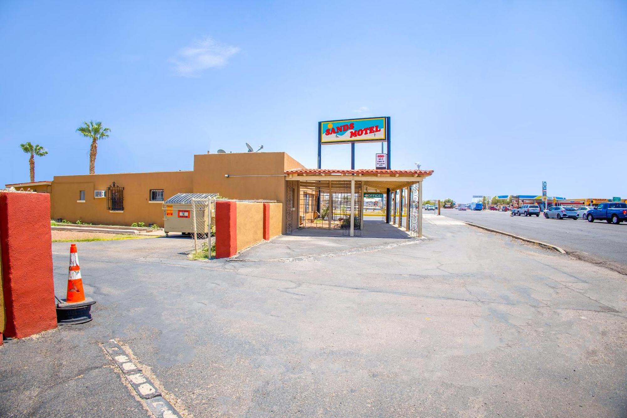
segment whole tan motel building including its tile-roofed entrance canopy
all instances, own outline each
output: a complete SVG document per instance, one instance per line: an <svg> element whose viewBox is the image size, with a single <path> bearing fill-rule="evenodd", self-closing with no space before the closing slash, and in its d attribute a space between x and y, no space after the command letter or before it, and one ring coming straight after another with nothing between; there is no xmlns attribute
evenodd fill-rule
<svg viewBox="0 0 627 418"><path fill-rule="evenodd" d="M273 201L283 234L422 236L421 169L311 169L287 153L194 156L191 171L55 176L6 185L50 193L52 220L164 226L164 201L177 193L217 193L224 200ZM241 221L240 221L241 222ZM243 222L246 222L245 220Z"/></svg>

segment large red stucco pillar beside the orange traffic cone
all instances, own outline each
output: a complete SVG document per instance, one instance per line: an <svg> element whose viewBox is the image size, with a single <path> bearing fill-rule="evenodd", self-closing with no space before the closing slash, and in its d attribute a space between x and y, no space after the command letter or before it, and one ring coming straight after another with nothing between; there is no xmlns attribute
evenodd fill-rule
<svg viewBox="0 0 627 418"><path fill-rule="evenodd" d="M56 328L48 193L0 193L0 250L4 334L23 338Z"/></svg>

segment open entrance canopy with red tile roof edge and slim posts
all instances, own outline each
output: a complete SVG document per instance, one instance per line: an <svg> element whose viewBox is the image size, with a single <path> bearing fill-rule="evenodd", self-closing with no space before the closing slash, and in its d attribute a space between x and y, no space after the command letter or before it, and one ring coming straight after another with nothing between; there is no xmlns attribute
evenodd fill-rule
<svg viewBox="0 0 627 418"><path fill-rule="evenodd" d="M337 228L350 237L361 235L364 193L378 192L386 196L386 223L403 227L413 237L422 237L422 185L431 174L433 170L419 169L285 171L286 233L298 228Z"/></svg>

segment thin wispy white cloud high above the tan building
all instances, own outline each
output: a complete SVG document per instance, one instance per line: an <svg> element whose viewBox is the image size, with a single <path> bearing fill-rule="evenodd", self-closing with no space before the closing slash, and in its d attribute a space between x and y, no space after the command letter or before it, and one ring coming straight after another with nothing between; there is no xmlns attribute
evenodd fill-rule
<svg viewBox="0 0 627 418"><path fill-rule="evenodd" d="M198 77L209 68L224 67L229 58L240 52L237 46L223 45L211 38L195 41L192 46L181 48L169 59L174 71L183 77Z"/></svg>

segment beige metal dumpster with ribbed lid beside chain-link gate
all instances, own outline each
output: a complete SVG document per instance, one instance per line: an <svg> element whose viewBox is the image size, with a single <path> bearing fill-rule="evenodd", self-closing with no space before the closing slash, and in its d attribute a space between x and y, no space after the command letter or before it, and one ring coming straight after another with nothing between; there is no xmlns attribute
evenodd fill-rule
<svg viewBox="0 0 627 418"><path fill-rule="evenodd" d="M218 193L178 193L163 203L164 232L207 238L215 224ZM210 214L210 215L209 215ZM194 228L194 223L196 228Z"/></svg>

